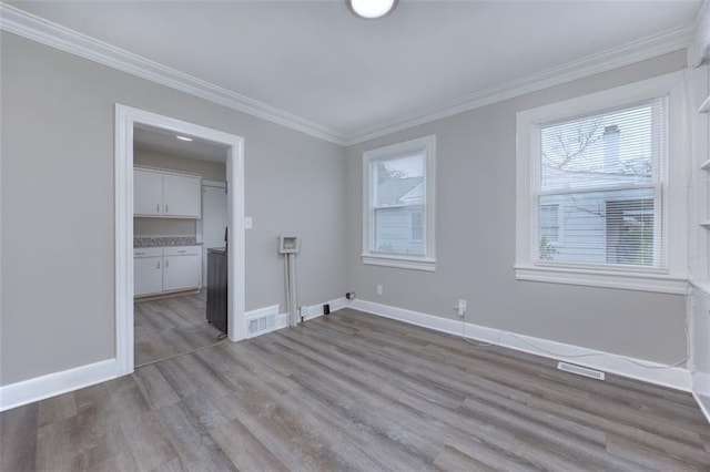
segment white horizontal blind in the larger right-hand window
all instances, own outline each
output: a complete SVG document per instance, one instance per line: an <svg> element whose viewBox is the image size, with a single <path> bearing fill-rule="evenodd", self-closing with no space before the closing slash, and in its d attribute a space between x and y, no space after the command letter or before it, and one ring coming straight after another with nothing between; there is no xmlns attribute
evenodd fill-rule
<svg viewBox="0 0 710 472"><path fill-rule="evenodd" d="M667 109L660 98L534 127L537 264L668 267Z"/></svg>

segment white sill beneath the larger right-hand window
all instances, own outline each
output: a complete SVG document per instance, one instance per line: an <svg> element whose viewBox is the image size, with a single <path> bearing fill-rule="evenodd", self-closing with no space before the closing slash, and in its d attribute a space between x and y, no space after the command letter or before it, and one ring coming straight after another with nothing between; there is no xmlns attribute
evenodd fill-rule
<svg viewBox="0 0 710 472"><path fill-rule="evenodd" d="M568 267L515 266L517 280L550 284L581 285L622 290L655 291L659 294L688 294L688 279L659 274L633 274L615 270L586 270Z"/></svg>

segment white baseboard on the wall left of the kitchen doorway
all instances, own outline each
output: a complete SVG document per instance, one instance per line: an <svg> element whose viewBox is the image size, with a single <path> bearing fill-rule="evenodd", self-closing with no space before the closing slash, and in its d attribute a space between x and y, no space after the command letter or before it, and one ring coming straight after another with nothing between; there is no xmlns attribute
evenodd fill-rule
<svg viewBox="0 0 710 472"><path fill-rule="evenodd" d="M115 359L102 360L0 387L0 411L115 379Z"/></svg>

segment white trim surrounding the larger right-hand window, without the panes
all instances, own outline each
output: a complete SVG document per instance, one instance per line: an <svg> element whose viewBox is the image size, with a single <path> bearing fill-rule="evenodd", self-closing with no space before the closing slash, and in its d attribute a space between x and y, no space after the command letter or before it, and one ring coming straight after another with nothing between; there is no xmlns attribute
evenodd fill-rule
<svg viewBox="0 0 710 472"><path fill-rule="evenodd" d="M688 160L684 131L686 78L682 71L607 91L526 110L517 114L516 264L518 280L609 287L628 290L686 294L688 291ZM669 101L668 188L665 195L668 269L628 269L535 261L531 235L536 213L531 198L532 130L541 124L581 116L659 96Z"/></svg>

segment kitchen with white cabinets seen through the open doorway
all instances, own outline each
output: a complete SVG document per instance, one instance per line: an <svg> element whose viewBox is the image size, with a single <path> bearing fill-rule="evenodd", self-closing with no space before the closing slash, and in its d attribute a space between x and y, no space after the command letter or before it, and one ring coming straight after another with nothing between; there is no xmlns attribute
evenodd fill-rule
<svg viewBox="0 0 710 472"><path fill-rule="evenodd" d="M133 154L134 359L140 367L225 337L226 151L136 126Z"/></svg>

